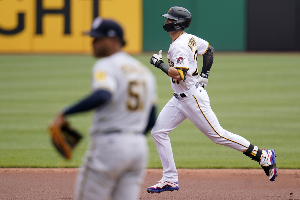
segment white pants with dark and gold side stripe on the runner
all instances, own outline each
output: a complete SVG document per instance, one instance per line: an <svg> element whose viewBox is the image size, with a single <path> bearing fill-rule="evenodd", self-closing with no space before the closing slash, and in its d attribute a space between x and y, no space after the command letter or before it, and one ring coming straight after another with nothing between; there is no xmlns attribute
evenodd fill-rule
<svg viewBox="0 0 300 200"><path fill-rule="evenodd" d="M222 144L238 151L245 151L250 145L245 138L233 134L221 127L213 113L207 92L198 87L185 98L173 97L159 113L151 131L159 157L163 165L163 180L178 181L170 138L171 131L188 118L196 127L216 144ZM256 154L257 146L253 153Z"/></svg>

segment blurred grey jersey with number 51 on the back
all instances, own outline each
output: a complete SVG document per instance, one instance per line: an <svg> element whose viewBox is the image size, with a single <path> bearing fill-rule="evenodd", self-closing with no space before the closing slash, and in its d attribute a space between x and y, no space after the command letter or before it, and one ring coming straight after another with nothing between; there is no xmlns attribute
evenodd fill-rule
<svg viewBox="0 0 300 200"><path fill-rule="evenodd" d="M93 67L92 90L105 89L111 100L96 109L91 134L143 133L157 100L151 71L125 52L99 59Z"/></svg>

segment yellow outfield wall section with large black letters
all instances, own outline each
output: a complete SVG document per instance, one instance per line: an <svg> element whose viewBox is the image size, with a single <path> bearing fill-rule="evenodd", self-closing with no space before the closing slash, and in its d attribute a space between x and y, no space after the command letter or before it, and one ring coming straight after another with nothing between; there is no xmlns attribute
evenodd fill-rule
<svg viewBox="0 0 300 200"><path fill-rule="evenodd" d="M93 18L124 29L129 53L142 51L142 0L0 0L0 53L90 53Z"/></svg>

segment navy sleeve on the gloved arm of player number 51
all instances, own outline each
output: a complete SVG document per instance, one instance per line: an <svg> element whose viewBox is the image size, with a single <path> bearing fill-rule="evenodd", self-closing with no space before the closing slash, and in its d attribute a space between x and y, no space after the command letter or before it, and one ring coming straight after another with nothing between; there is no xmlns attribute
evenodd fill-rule
<svg viewBox="0 0 300 200"><path fill-rule="evenodd" d="M79 113L96 108L103 103L106 103L111 98L111 94L107 90L97 90L87 98L79 101L73 106L64 110L64 115Z"/></svg>

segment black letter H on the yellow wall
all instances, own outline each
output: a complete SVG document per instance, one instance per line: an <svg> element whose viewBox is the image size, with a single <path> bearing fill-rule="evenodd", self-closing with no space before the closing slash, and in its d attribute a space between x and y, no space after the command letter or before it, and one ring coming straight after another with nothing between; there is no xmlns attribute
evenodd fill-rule
<svg viewBox="0 0 300 200"><path fill-rule="evenodd" d="M42 34L42 18L45 14L62 14L65 17L64 34L70 34L70 0L64 0L65 6L62 9L44 9L43 0L37 0L36 34Z"/></svg>

